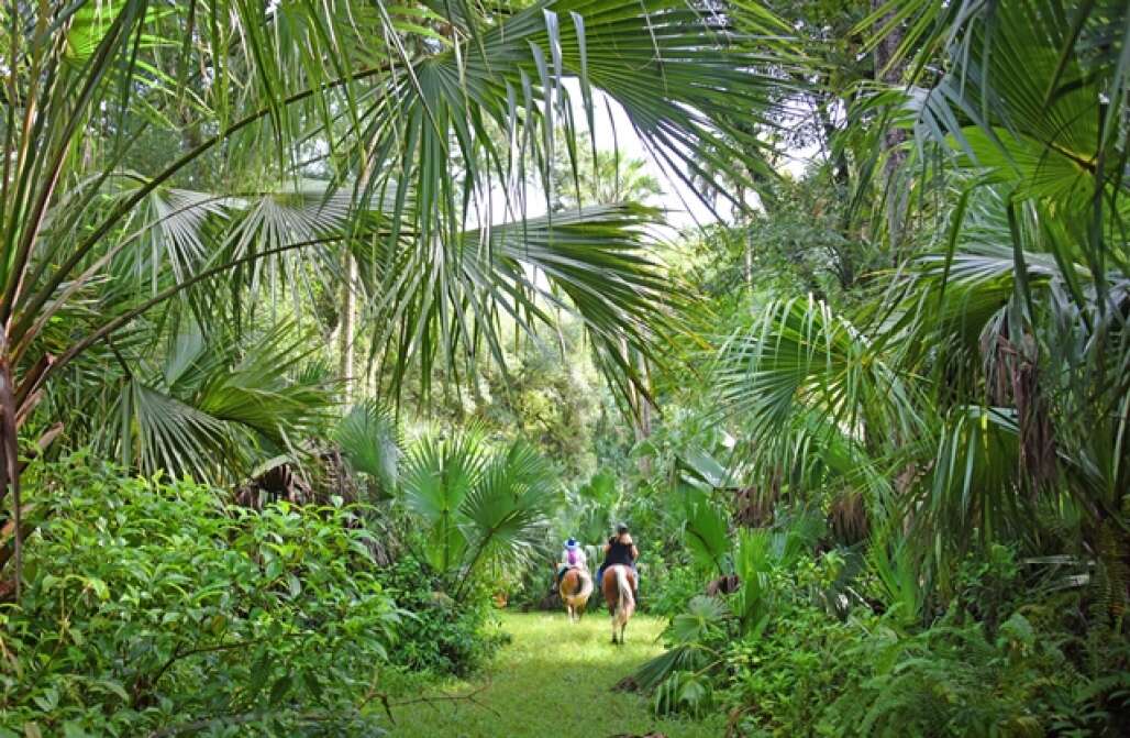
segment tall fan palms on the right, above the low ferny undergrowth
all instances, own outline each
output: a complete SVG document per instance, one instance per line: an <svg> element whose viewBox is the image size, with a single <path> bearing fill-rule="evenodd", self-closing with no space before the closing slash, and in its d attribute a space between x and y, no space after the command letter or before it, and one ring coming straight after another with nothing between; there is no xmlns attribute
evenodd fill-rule
<svg viewBox="0 0 1130 738"><path fill-rule="evenodd" d="M886 496L873 510L947 561L977 539L1060 546L1057 528L1081 520L1080 553L1116 609L1130 583L1130 140L1115 122L1130 9L880 10L895 6L924 33L903 49L922 49L925 86L899 96L911 114L899 121L928 157L914 186L940 196L920 199L944 224L938 246L888 280L878 311L768 311L723 354L728 397L750 409L757 437L773 423L803 431L755 449L763 474L782 458L823 461L840 439L868 470L855 484Z"/></svg>

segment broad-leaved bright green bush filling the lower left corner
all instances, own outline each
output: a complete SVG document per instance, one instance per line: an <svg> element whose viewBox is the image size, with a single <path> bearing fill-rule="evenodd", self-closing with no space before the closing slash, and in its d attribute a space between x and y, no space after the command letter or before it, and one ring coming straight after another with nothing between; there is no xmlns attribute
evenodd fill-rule
<svg viewBox="0 0 1130 738"><path fill-rule="evenodd" d="M401 616L349 509L255 512L82 457L26 493L0 736L379 735Z"/></svg>

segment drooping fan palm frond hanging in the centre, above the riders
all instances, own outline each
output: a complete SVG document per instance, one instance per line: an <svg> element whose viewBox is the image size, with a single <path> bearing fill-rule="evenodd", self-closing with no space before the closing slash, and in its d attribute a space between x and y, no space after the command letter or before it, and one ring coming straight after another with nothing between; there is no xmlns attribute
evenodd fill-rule
<svg viewBox="0 0 1130 738"><path fill-rule="evenodd" d="M657 215L632 205L585 208L464 232L454 253L419 241L399 250L366 311L374 350L401 367L392 389L414 359L427 372L485 349L502 363L499 321L532 333L554 324L555 309L582 320L599 355L618 357L608 372L614 385L644 385L620 347L658 356L677 302L650 253L646 228ZM420 380L426 387L428 376Z"/></svg>

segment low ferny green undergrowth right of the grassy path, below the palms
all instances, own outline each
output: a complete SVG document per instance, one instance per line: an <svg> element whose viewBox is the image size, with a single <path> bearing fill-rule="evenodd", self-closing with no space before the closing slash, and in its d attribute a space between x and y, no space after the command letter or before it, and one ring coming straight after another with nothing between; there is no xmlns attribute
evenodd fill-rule
<svg viewBox="0 0 1130 738"><path fill-rule="evenodd" d="M831 607L837 555L806 557L765 574L773 607L746 630L737 594L690 599L669 651L636 677L658 712L720 707L732 736L1123 735L1130 645L1118 624L1077 632L1083 593L1027 590L1010 556L963 566L962 597L929 627L859 597Z"/></svg>

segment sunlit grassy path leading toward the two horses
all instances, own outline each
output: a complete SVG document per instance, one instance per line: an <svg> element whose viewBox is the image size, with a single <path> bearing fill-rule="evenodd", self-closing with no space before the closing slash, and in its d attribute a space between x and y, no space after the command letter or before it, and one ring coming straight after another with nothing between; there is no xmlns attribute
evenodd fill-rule
<svg viewBox="0 0 1130 738"><path fill-rule="evenodd" d="M397 738L607 738L660 732L667 738L706 738L723 733L722 723L663 720L647 701L611 687L662 648L658 618L636 616L627 644L614 646L603 613L571 625L564 613L505 614L503 630L513 637L484 674L423 695L475 694L476 702L420 702L393 709ZM405 694L400 700L416 695Z"/></svg>

